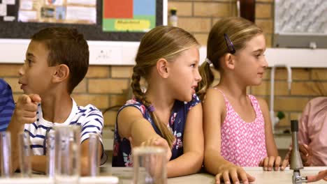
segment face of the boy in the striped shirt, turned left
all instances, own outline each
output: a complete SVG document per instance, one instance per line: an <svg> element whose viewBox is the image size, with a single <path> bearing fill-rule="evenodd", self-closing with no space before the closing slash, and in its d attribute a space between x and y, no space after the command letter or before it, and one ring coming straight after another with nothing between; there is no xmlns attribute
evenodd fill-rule
<svg viewBox="0 0 327 184"><path fill-rule="evenodd" d="M42 97L50 92L55 67L48 66L48 55L49 50L44 43L31 40L24 65L18 70L20 75L18 83L25 94L36 93Z"/></svg>

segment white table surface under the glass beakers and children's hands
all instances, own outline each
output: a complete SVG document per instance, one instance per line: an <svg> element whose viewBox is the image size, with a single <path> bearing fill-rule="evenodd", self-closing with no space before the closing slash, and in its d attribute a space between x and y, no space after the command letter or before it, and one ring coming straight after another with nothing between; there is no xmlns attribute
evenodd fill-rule
<svg viewBox="0 0 327 184"><path fill-rule="evenodd" d="M326 170L327 167L305 167L301 170L301 176L308 176L308 175L315 175L319 171ZM114 167L114 168L106 168L101 169L101 176L94 178L87 178L82 177L80 183L116 183L117 178L119 178L120 184L131 184L133 178L133 168L126 168L126 167ZM256 178L254 183L264 183L264 184L289 184L291 182L291 177L293 175L293 170L289 170L286 168L285 171L263 171L262 167L245 167L245 171L248 174L251 174ZM112 176L110 176L112 174ZM6 184L37 184L37 183L50 183L52 184L53 181L49 178L45 178L44 175L37 175L34 174L32 178L18 178L19 174L15 174L14 179L5 179L0 178L0 183ZM207 173L200 173L200 174L192 174L189 176L181 176L176 178L168 178L168 184L206 184L206 183L215 183L215 176L212 176ZM317 181L317 184L324 183L326 181Z"/></svg>

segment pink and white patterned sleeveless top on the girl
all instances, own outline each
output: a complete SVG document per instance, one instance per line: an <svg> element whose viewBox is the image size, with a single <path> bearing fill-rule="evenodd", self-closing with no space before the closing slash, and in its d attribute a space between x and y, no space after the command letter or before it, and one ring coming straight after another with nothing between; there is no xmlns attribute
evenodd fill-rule
<svg viewBox="0 0 327 184"><path fill-rule="evenodd" d="M222 91L220 93L224 95ZM226 117L221 125L221 156L241 167L258 167L267 157L265 121L258 100L254 95L248 96L256 112L251 123L242 120L224 95Z"/></svg>

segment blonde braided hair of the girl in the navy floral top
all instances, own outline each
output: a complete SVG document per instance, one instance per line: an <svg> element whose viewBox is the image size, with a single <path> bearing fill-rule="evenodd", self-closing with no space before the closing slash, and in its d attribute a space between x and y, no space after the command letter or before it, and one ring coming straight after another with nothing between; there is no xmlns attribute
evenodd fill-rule
<svg viewBox="0 0 327 184"><path fill-rule="evenodd" d="M133 68L131 88L136 99L140 100L146 107L151 106L151 102L145 97L145 93L140 89L140 79L145 80L150 74L150 69L156 66L159 59L175 61L176 57L184 50L197 46L196 38L184 29L174 26L157 26L143 36L138 53L136 54L136 66ZM154 124L169 146L173 146L175 137L168 130L167 125L162 123L156 112L151 112Z"/></svg>

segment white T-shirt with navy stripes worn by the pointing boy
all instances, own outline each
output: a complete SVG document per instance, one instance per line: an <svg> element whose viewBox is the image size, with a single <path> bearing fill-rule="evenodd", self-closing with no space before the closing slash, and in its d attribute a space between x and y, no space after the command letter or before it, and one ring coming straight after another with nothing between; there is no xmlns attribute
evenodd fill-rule
<svg viewBox="0 0 327 184"><path fill-rule="evenodd" d="M96 133L100 135L99 138L102 144L103 116L99 109L96 109L93 105L77 106L75 100L73 100L71 114L64 123L52 123L43 119L41 104L38 105L36 116L36 122L24 125L24 131L29 133L34 155L46 155L46 135L48 135L48 132L54 131L52 129L54 126L79 125L81 126L81 143L89 139L90 133ZM103 150L101 164L106 160L107 156Z"/></svg>

